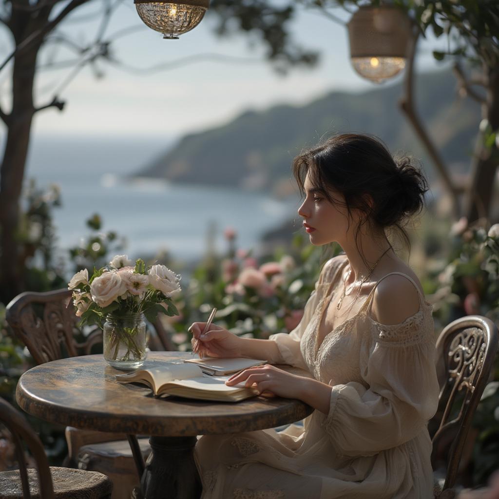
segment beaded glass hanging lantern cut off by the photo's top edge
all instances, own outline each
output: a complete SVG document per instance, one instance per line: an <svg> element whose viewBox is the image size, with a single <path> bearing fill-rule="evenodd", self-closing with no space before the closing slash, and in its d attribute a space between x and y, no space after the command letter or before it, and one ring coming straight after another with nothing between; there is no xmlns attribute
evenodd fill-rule
<svg viewBox="0 0 499 499"><path fill-rule="evenodd" d="M210 0L134 0L140 18L163 38L176 40L203 19Z"/></svg>

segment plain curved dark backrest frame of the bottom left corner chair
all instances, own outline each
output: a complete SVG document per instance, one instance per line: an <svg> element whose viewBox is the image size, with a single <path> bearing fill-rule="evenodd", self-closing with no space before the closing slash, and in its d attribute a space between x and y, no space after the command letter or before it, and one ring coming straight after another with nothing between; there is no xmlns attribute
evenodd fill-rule
<svg viewBox="0 0 499 499"><path fill-rule="evenodd" d="M52 477L48 467L47 457L43 450L43 445L40 439L29 427L27 421L16 411L10 404L0 398L0 423L2 423L12 436L12 441L15 446L15 455L19 465L19 474L22 485L22 497L30 499L28 475L24 458L24 449L22 441L24 441L31 452L36 463L38 474L39 498L54 499L54 489L52 485Z"/></svg>

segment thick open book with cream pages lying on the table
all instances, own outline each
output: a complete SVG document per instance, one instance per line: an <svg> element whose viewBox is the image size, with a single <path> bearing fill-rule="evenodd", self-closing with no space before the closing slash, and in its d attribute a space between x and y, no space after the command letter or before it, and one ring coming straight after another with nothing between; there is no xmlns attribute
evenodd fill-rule
<svg viewBox="0 0 499 499"><path fill-rule="evenodd" d="M195 364L165 363L158 367L140 369L128 374L117 374L120 383L143 383L157 397L176 395L190 399L238 402L258 394L255 388L243 383L227 386L227 378L203 374Z"/></svg>

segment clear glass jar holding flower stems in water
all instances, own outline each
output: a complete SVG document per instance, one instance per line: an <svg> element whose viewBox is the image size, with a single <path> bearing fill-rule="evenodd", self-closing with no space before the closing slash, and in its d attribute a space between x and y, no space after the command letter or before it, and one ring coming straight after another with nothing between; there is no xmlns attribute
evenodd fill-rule
<svg viewBox="0 0 499 499"><path fill-rule="evenodd" d="M136 369L146 359L146 324L142 313L109 314L104 323L104 358L115 369Z"/></svg>

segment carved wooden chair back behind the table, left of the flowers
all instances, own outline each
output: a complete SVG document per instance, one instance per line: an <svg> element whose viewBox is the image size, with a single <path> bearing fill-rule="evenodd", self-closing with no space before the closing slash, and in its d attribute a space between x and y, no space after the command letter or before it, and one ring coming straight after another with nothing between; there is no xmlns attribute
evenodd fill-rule
<svg viewBox="0 0 499 499"><path fill-rule="evenodd" d="M27 346L37 364L90 353L102 342L102 333L90 328L83 334L76 323L71 291L24 292L7 305L5 318Z"/></svg>

